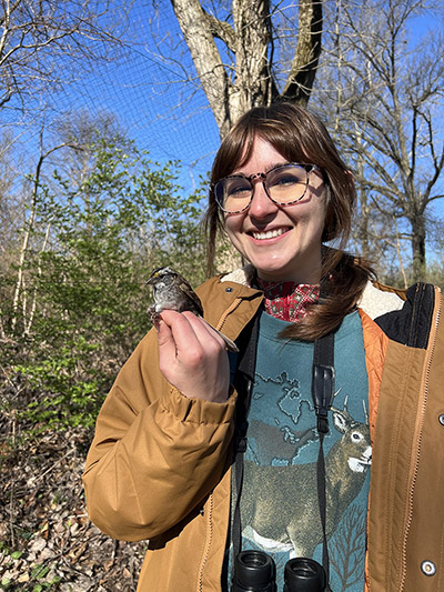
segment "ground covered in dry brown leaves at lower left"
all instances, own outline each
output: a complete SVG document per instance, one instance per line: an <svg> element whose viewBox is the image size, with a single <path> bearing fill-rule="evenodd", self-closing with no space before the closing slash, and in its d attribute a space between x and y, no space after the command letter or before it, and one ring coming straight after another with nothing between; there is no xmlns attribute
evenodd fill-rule
<svg viewBox="0 0 444 592"><path fill-rule="evenodd" d="M147 543L114 541L88 520L91 439L80 428L24 435L0 420L0 590L135 591Z"/></svg>

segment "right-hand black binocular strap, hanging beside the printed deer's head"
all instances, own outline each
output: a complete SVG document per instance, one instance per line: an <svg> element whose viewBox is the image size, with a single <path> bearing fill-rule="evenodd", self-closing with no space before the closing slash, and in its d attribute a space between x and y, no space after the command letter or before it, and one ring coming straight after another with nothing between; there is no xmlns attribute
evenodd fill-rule
<svg viewBox="0 0 444 592"><path fill-rule="evenodd" d="M320 450L317 454L317 500L322 525L322 565L325 571L326 586L330 588L330 561L326 541L326 476L324 437L329 433L329 410L334 397L334 333L329 333L314 342L312 397L317 418L317 433L320 437Z"/></svg>

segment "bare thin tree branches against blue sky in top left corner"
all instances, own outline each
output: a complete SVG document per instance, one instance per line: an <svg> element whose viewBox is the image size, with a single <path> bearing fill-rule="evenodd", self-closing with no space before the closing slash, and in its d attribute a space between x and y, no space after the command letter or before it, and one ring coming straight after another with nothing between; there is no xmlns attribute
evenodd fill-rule
<svg viewBox="0 0 444 592"><path fill-rule="evenodd" d="M0 108L29 110L115 57L127 10L110 0L1 2Z"/></svg>

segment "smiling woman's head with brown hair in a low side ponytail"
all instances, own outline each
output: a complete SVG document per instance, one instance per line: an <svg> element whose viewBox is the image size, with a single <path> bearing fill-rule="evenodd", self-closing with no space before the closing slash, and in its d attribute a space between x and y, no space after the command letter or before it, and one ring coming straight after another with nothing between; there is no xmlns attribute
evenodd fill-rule
<svg viewBox="0 0 444 592"><path fill-rule="evenodd" d="M282 200L269 179L289 164L303 177ZM243 208L226 211L223 190L226 193L239 175L250 179L250 199ZM319 118L289 103L252 109L224 139L213 163L206 212L210 270L216 235L226 232L260 279L322 280L324 298L282 333L316 339L341 323L371 275L365 263L341 250L350 235L355 199L353 175ZM340 249L322 247L332 240Z"/></svg>

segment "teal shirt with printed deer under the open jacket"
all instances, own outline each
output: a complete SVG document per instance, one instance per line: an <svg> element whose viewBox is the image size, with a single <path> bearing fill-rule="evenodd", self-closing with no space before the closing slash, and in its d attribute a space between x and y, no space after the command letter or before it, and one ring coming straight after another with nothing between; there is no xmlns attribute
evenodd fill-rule
<svg viewBox="0 0 444 592"><path fill-rule="evenodd" d="M283 589L289 559L307 556L322 563L313 343L280 339L287 324L266 313L260 319L241 496L242 549L273 556L278 590ZM362 592L371 443L357 312L349 314L336 332L334 357L335 397L324 439L330 583L334 592Z"/></svg>

